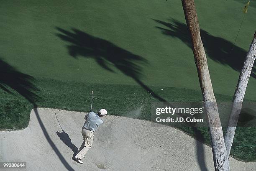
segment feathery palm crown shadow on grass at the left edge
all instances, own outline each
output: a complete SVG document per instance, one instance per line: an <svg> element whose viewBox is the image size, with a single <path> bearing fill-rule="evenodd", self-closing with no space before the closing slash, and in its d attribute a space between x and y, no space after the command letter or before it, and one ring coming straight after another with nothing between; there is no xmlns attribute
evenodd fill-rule
<svg viewBox="0 0 256 171"><path fill-rule="evenodd" d="M12 90L15 90L29 102L35 104L41 98L35 94L38 88L33 84L33 81L33 77L19 72L13 66L0 59L0 88L5 92L13 94Z"/></svg>

